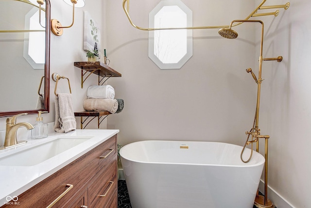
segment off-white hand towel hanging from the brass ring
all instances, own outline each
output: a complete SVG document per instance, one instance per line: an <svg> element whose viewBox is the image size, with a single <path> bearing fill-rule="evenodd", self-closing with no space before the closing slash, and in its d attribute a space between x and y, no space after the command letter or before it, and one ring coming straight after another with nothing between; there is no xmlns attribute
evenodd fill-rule
<svg viewBox="0 0 311 208"><path fill-rule="evenodd" d="M77 126L73 113L71 94L58 93L55 96L55 132L70 132Z"/></svg>

